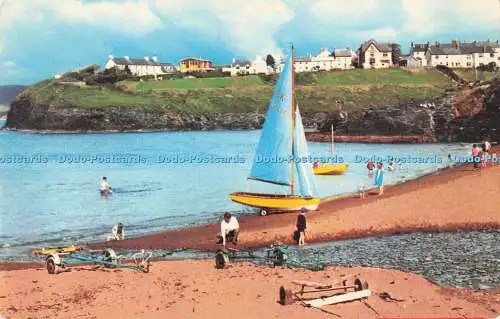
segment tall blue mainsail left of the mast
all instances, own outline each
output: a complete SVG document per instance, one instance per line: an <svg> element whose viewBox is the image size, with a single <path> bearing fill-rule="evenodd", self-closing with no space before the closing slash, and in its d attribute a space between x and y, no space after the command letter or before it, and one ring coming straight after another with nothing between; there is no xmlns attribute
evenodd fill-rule
<svg viewBox="0 0 500 319"><path fill-rule="evenodd" d="M274 89L249 179L291 185L292 54Z"/></svg>

